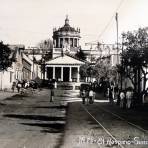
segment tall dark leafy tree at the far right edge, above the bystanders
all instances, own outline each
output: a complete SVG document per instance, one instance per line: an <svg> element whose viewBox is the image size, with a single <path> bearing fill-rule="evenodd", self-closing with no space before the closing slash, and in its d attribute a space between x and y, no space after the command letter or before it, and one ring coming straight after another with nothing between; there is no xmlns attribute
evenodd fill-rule
<svg viewBox="0 0 148 148"><path fill-rule="evenodd" d="M146 89L148 74L146 71L148 68L148 33L146 28L139 28L137 31L124 34L124 50L121 56L121 69L132 82L134 91L138 94L138 101L141 102L140 94Z"/></svg>

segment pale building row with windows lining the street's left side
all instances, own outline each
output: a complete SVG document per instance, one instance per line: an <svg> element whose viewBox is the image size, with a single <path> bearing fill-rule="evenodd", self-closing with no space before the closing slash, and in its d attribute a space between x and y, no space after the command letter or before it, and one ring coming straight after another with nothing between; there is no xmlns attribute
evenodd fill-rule
<svg viewBox="0 0 148 148"><path fill-rule="evenodd" d="M38 77L39 66L24 54L24 45L9 45L11 56L16 62L0 72L0 89L10 89L13 82L31 80ZM34 68L34 69L33 69Z"/></svg>

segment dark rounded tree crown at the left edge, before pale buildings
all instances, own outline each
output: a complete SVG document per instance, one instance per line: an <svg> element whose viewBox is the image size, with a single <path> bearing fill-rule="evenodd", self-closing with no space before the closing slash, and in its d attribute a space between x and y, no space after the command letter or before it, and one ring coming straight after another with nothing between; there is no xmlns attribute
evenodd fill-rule
<svg viewBox="0 0 148 148"><path fill-rule="evenodd" d="M0 42L0 71L7 70L8 67L12 65L12 62L15 62L15 57L11 52L11 49L8 45Z"/></svg>

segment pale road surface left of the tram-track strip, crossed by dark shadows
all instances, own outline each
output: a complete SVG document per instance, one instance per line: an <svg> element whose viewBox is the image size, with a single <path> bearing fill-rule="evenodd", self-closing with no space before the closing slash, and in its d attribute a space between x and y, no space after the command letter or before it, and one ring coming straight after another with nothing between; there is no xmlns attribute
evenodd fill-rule
<svg viewBox="0 0 148 148"><path fill-rule="evenodd" d="M55 147L63 134L66 104L49 102L49 90L0 103L0 148Z"/></svg>

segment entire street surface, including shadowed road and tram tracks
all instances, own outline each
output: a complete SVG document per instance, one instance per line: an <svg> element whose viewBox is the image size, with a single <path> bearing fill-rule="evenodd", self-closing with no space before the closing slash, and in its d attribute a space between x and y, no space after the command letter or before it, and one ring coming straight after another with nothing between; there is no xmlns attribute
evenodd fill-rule
<svg viewBox="0 0 148 148"><path fill-rule="evenodd" d="M122 110L102 96L82 104L79 91L50 90L0 101L0 148L146 148L146 110Z"/></svg>

